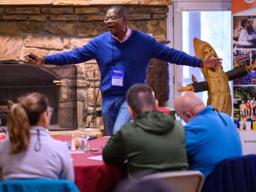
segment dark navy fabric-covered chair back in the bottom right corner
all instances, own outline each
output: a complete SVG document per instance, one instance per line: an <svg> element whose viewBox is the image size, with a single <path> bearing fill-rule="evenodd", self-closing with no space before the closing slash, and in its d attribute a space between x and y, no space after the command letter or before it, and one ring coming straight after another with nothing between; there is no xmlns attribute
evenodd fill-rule
<svg viewBox="0 0 256 192"><path fill-rule="evenodd" d="M202 192L256 191L256 155L224 159L206 177Z"/></svg>

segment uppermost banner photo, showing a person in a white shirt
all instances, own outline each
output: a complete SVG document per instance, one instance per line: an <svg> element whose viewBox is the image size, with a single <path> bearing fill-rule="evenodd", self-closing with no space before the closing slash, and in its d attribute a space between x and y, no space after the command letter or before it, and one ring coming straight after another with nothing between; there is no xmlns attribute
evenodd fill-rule
<svg viewBox="0 0 256 192"><path fill-rule="evenodd" d="M256 49L256 15L233 16L233 49Z"/></svg>

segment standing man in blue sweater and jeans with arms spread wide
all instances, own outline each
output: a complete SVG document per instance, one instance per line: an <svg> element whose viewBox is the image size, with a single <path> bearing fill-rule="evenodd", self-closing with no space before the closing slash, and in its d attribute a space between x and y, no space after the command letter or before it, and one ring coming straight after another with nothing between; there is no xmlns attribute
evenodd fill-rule
<svg viewBox="0 0 256 192"><path fill-rule="evenodd" d="M30 58L29 54L25 57L37 65L58 66L96 59L101 78L105 135L112 135L125 122L131 120L125 101L126 91L135 83L145 83L147 68L152 58L191 67L212 68L221 65L220 58L210 55L201 60L170 49L150 35L129 29L127 12L123 6L109 8L103 20L109 32L95 37L86 46L49 56L30 53Z"/></svg>

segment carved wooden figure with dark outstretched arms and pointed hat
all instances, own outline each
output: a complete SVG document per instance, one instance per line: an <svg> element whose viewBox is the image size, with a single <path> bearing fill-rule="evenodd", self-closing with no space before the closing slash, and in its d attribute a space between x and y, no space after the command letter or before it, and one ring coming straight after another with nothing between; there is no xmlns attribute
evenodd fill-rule
<svg viewBox="0 0 256 192"><path fill-rule="evenodd" d="M205 41L194 38L194 49L198 58L206 58L210 51L214 51L214 57L218 57L215 50ZM233 80L244 75L247 75L248 70L253 66L241 66L234 68L225 73L221 66L214 68L201 68L204 79L206 81L197 82L193 75L192 81L194 83L188 84L186 87L181 87L178 91L208 91L207 105L211 104L219 112L226 113L231 116L231 95L228 81Z"/></svg>

